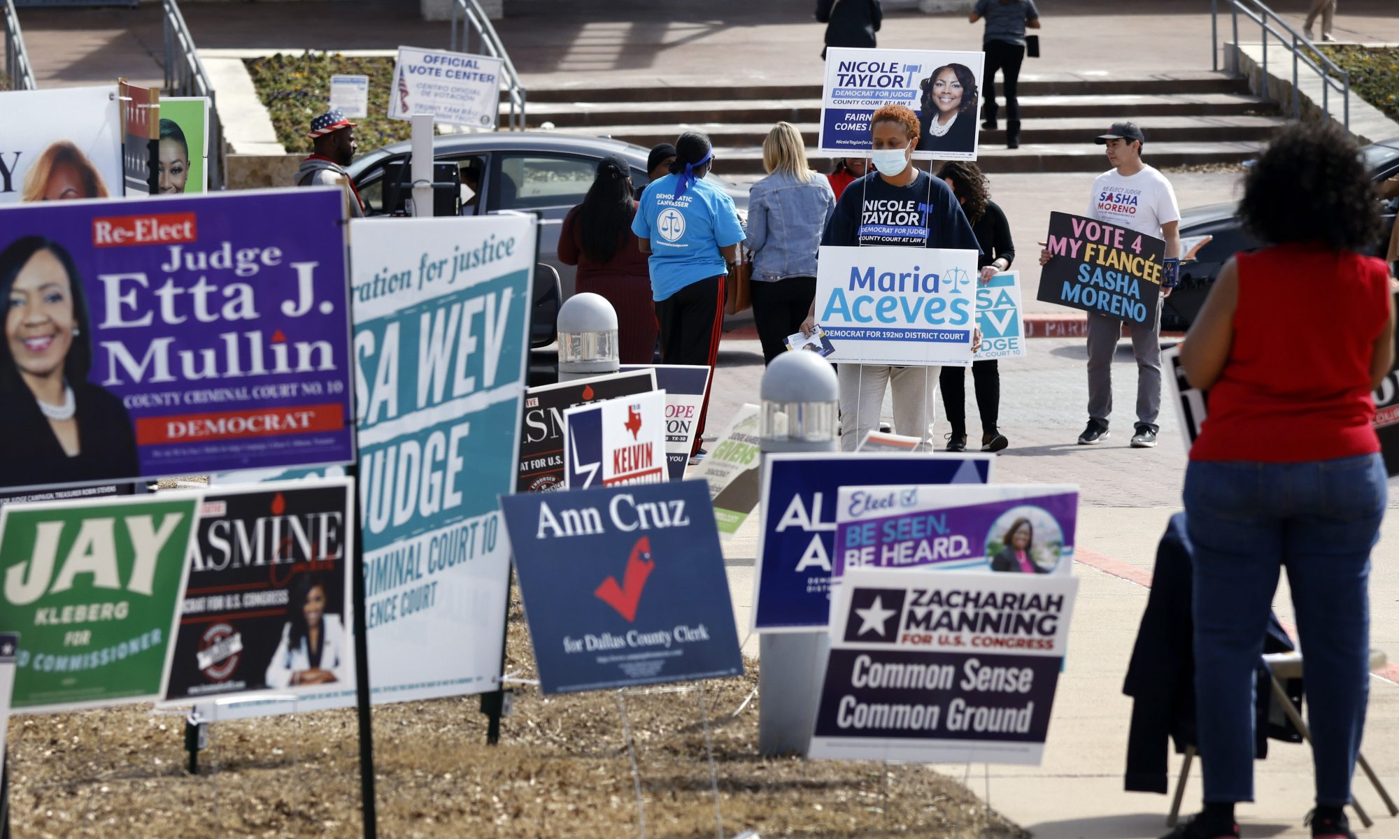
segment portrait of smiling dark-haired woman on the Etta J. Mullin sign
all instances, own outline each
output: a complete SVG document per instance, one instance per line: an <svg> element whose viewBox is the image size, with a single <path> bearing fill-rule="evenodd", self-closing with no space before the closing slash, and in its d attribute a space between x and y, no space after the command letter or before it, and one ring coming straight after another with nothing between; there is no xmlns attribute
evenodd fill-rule
<svg viewBox="0 0 1399 839"><path fill-rule="evenodd" d="M73 257L42 236L0 250L0 487L134 478L122 400L91 385L92 336Z"/></svg>

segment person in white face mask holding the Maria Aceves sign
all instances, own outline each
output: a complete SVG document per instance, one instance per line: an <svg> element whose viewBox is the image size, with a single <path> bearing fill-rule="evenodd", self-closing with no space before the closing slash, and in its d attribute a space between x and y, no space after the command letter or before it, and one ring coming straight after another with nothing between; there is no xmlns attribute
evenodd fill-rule
<svg viewBox="0 0 1399 839"><path fill-rule="evenodd" d="M874 172L860 178L835 203L821 245L949 248L978 250L977 235L967 222L953 190L928 172L914 168L912 154L919 137L918 116L902 105L886 105L870 117L870 162ZM915 225L880 224L888 213L916 218ZM866 220L869 222L866 224ZM802 324L804 334L816 326L816 302ZM890 366L845 364L841 380L841 449L853 452L879 426L884 390L894 392L894 431L930 445L936 406L936 366Z"/></svg>

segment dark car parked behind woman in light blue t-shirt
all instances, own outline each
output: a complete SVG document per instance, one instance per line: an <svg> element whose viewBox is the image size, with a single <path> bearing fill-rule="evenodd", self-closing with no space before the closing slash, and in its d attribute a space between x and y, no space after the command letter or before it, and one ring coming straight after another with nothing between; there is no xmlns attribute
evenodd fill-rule
<svg viewBox="0 0 1399 839"><path fill-rule="evenodd" d="M371 151L350 164L348 172L368 204L369 215L385 214L385 166L409 157L410 144L396 143ZM581 204L593 183L597 162L609 154L620 154L631 164L631 179L637 186L649 182L646 155L649 148L609 140L558 131L492 131L483 134L441 134L432 138L438 162L450 161L462 168L462 183L476 196L462 208L464 215L519 210L540 218L539 261L558 271L562 294L574 294L574 266L558 261L558 234L568 211ZM708 180L720 186L739 211L748 208L748 187L737 186L722 175L711 173Z"/></svg>

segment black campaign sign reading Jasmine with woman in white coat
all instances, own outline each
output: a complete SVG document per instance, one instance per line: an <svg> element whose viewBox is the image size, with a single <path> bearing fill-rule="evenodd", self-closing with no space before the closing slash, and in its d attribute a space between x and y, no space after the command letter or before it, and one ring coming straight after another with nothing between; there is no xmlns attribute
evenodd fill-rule
<svg viewBox="0 0 1399 839"><path fill-rule="evenodd" d="M354 701L350 478L210 489L199 508L166 702L263 689Z"/></svg>

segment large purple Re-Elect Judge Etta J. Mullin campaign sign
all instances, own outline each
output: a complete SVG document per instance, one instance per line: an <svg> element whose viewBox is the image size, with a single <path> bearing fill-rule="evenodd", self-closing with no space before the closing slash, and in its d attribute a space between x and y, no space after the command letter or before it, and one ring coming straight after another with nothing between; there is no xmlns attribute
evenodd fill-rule
<svg viewBox="0 0 1399 839"><path fill-rule="evenodd" d="M28 443L0 488L354 460L341 217L333 189L0 208L35 313L0 351L0 439ZM66 399L77 453L41 413Z"/></svg>

